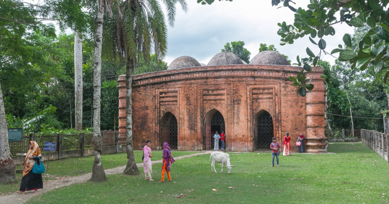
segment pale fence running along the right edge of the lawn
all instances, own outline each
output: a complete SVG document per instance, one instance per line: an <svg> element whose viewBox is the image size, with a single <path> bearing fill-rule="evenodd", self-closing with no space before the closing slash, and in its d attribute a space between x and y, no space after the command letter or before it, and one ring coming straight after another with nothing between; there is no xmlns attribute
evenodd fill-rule
<svg viewBox="0 0 389 204"><path fill-rule="evenodd" d="M389 137L382 132L371 130L361 130L362 143L367 145L371 150L377 152L382 158L389 162Z"/></svg>

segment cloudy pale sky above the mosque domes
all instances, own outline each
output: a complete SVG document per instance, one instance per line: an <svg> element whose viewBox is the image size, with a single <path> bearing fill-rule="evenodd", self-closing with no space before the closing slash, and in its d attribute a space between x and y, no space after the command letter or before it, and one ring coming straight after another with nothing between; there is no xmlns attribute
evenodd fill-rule
<svg viewBox="0 0 389 204"><path fill-rule="evenodd" d="M215 0L211 5L202 5L196 0L186 0L188 12L184 13L177 4L175 26L169 27L168 52L165 61L170 64L179 56L192 56L198 62L208 64L212 56L221 52L224 44L231 41L245 41L245 48L251 52L250 59L258 54L261 43L274 44L277 50L289 56L292 63L296 56L307 56L306 47L318 54L317 45L308 37L295 40L292 45L280 45L281 37L277 35L280 28L277 23L286 21L293 24L294 13L289 8L271 6L271 0ZM296 0L292 5L296 9L306 9L309 0ZM336 14L338 17L338 13ZM338 44L343 45L345 33L353 34L354 30L346 24L335 26L336 35L326 36L326 51L331 52ZM315 38L318 41L318 38ZM336 55L338 56L338 55ZM334 64L335 58L322 55L323 60Z"/></svg>

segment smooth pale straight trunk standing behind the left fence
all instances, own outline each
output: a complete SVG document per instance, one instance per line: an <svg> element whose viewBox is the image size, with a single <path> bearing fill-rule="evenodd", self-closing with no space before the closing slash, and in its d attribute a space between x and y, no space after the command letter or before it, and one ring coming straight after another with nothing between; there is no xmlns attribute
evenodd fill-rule
<svg viewBox="0 0 389 204"><path fill-rule="evenodd" d="M82 40L78 31L74 32L74 117L76 130L82 130Z"/></svg>

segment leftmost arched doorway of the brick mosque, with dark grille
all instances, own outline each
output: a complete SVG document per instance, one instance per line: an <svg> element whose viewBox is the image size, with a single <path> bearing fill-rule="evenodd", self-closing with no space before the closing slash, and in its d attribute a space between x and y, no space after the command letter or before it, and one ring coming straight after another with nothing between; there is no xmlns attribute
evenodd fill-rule
<svg viewBox="0 0 389 204"><path fill-rule="evenodd" d="M160 142L167 142L171 149L178 147L177 118L171 112L166 112L160 121Z"/></svg>

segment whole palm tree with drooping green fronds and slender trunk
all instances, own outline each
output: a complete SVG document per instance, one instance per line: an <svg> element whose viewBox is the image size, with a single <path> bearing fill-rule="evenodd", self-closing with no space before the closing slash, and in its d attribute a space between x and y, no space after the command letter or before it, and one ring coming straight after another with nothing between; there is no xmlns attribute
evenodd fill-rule
<svg viewBox="0 0 389 204"><path fill-rule="evenodd" d="M182 10L187 11L185 0L161 0L165 4L170 26L174 25L176 17L176 3ZM165 16L159 0L124 0L116 5L114 21L106 21L104 50L107 56L118 58L126 64L126 130L127 137L127 166L124 173L138 175L139 170L135 164L134 146L132 140L132 74L137 59L142 57L145 61L150 58L154 49L157 59L166 55L167 26Z"/></svg>

